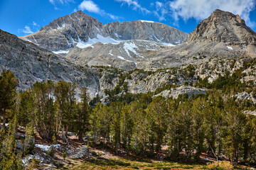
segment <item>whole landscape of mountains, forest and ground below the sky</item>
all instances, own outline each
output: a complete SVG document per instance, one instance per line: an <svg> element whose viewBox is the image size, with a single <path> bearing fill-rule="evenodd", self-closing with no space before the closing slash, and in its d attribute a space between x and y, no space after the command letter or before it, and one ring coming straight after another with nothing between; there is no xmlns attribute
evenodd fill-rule
<svg viewBox="0 0 256 170"><path fill-rule="evenodd" d="M256 167L256 33L228 11L0 30L0 72L0 169Z"/></svg>

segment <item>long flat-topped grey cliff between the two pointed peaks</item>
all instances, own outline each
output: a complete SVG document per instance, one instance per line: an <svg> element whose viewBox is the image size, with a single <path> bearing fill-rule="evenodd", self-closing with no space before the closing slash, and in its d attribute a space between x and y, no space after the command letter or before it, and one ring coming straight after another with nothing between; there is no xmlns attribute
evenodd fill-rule
<svg viewBox="0 0 256 170"><path fill-rule="evenodd" d="M132 21L107 23L104 31L117 40L151 40L178 44L186 40L188 34L163 23L154 21Z"/></svg>

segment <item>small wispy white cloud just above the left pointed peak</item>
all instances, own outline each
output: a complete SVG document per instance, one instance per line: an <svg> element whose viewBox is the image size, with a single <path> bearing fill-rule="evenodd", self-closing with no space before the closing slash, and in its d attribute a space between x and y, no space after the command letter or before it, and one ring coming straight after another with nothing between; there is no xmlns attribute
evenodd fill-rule
<svg viewBox="0 0 256 170"><path fill-rule="evenodd" d="M82 1L78 8L82 11L86 10L91 13L97 13L101 16L108 16L112 18L112 20L117 20L119 18L118 16L114 16L111 13L107 13L104 10L100 9L100 7L97 6L94 1Z"/></svg>

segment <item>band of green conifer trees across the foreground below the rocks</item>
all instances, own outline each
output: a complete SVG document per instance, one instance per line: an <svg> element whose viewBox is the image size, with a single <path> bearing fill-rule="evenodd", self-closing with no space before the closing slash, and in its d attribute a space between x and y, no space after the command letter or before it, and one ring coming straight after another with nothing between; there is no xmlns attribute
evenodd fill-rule
<svg viewBox="0 0 256 170"><path fill-rule="evenodd" d="M16 118L18 125L31 125L48 140L68 143L71 131L79 140L89 137L117 153L122 148L127 154L153 157L166 146L169 158L185 155L186 160L197 161L207 152L216 159L256 163L256 118L244 113L255 110L255 105L236 101L221 90L176 99L126 91L106 105L98 98L89 106L86 89L77 101L75 84L65 81L36 82L31 89L16 92L17 80L7 71L0 84L0 101L8 101L0 105L4 123Z"/></svg>

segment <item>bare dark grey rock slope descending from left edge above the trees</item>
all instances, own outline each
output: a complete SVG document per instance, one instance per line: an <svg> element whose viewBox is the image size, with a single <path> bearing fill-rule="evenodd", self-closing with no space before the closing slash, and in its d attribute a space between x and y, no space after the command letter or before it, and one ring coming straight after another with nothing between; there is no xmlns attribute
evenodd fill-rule
<svg viewBox="0 0 256 170"><path fill-rule="evenodd" d="M31 42L0 30L0 72L3 69L14 72L22 90L30 88L36 81L47 79L70 81L87 87L90 93L100 89L95 70L80 68Z"/></svg>

